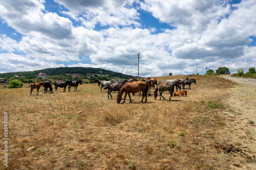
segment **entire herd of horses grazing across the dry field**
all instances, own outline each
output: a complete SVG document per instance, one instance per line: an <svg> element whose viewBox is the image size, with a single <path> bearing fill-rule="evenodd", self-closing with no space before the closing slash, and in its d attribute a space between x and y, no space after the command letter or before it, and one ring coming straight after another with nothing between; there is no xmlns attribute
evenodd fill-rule
<svg viewBox="0 0 256 170"><path fill-rule="evenodd" d="M142 79L141 81L137 81L136 79L130 79L130 80L120 80L119 82L117 82L116 79L110 80L110 81L105 81L105 80L95 80L94 83L98 83L98 87L100 87L100 91L102 92L102 88L103 89L108 89L108 99L109 95L111 96L112 99L112 95L111 92L112 91L118 91L117 94L117 103L119 104L122 100L122 94L125 92L124 95L124 100L123 103L125 102L125 98L126 95L128 94L130 102L132 102L131 100L131 95L130 93L133 93L133 95L135 95L135 93L139 92L139 95L142 95L142 99L141 102L143 102L143 99L145 98L145 102L147 102L147 95L151 94L151 88L155 88L154 91L154 99L157 98L157 96L160 96L160 99L163 98L165 100L165 98L163 97L162 93L164 91L168 91L169 92L169 101L171 96L183 96L183 95L187 95L187 91L184 90L185 89L185 85L189 86L189 90L190 90L190 85L191 83L195 83L196 84L196 80L195 79L188 79L188 78L184 78L184 79L176 79L176 80L163 80L159 83L157 83L157 80L151 79L151 78L146 78L146 79ZM67 81L56 81L54 83L54 88L55 91L57 91L58 87L63 88L63 92L66 92L66 88L68 86L68 89L70 91L70 88L73 86L74 91L77 90L77 86L82 84L81 80L76 80L76 81L71 81L71 80L67 80ZM182 85L182 91L181 91L181 85ZM32 91L34 88L37 89L36 95L38 95L39 92L39 88L43 86L44 87L44 93L46 93L48 91L48 88L50 88L50 93L53 93L53 88L51 85L50 81L45 81L45 82L39 82L39 83L31 83L29 85L29 87L31 87L30 89L30 95L32 94ZM180 89L180 92L175 93L174 92L174 87L176 87L176 91L178 92L178 88ZM159 91L159 94L158 94ZM142 93L142 94L141 94Z"/></svg>

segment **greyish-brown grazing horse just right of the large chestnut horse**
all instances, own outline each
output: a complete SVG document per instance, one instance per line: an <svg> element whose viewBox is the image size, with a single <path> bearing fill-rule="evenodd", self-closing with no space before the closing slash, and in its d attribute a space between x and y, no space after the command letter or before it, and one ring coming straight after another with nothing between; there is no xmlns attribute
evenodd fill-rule
<svg viewBox="0 0 256 170"><path fill-rule="evenodd" d="M154 91L154 99L157 99L157 91L159 90L159 96L161 100L161 96L162 98L165 100L165 98L162 95L163 91L169 91L170 95L169 95L169 101L170 101L170 97L173 95L174 92L174 84L173 82L163 82L163 83L159 83Z"/></svg>

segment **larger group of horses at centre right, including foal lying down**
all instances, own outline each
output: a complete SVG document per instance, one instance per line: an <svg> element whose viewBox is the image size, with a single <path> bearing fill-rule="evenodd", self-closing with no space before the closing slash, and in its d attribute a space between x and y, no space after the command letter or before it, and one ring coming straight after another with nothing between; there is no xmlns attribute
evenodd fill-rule
<svg viewBox="0 0 256 170"><path fill-rule="evenodd" d="M154 99L157 98L158 91L159 91L160 100L161 100L161 97L165 99L162 93L164 91L168 91L169 101L170 101L171 96L187 95L187 91L184 90L185 85L188 85L190 90L191 83L196 84L195 79L188 79L188 78L176 79L176 80L163 80L159 83L157 83L156 79L151 79L151 78L142 79L141 81L137 81L136 79L133 78L130 80L120 80L119 82L117 82L116 79L113 79L110 81L97 80L94 83L96 82L98 83L98 87L100 87L101 91L102 91L102 88L108 89L108 99L109 99L109 95L111 96L111 99L112 99L112 95L111 95L112 91L118 91L118 94L117 94L118 104L121 102L122 94L124 92L125 92L125 95L124 95L123 103L125 102L125 98L127 94L129 96L130 102L132 102L130 93L133 93L134 95L137 92L139 92L139 95L142 93L141 102L143 102L144 97L145 97L145 102L147 102L148 92L151 93L151 88L155 88L156 86L154 91ZM182 91L181 91L181 85L183 89ZM176 91L178 91L178 88L179 88L180 93L174 93L174 87L176 87Z"/></svg>

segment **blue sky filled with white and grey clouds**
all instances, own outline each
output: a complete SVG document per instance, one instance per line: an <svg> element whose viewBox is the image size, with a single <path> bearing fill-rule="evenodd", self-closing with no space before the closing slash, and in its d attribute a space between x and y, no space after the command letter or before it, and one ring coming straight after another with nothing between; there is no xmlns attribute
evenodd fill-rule
<svg viewBox="0 0 256 170"><path fill-rule="evenodd" d="M255 9L255 0L0 0L0 73L82 66L137 76L138 53L144 77L248 71Z"/></svg>

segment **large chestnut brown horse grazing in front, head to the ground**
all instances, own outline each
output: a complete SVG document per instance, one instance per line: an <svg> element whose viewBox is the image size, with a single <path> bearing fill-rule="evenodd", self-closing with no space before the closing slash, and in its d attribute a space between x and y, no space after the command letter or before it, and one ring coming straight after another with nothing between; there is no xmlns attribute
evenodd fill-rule
<svg viewBox="0 0 256 170"><path fill-rule="evenodd" d="M120 103L121 100L122 100L122 94L125 92L125 95L124 95L124 100L123 100L123 103L125 102L125 98L126 98L126 95L128 93L129 95L129 98L130 98L130 103L132 102L131 100L131 96L130 96L130 93L137 93L139 92L140 90L142 90L142 99L141 99L141 102L143 102L143 98L145 96L145 98L147 97L147 90L148 90L148 85L146 82L142 82L142 81L139 81L139 82L132 82L132 83L125 83L122 88L118 91L118 94L117 94L117 102L116 103ZM145 102L147 102L147 99L145 100Z"/></svg>

